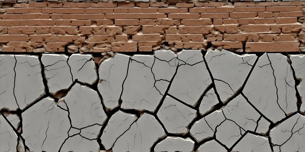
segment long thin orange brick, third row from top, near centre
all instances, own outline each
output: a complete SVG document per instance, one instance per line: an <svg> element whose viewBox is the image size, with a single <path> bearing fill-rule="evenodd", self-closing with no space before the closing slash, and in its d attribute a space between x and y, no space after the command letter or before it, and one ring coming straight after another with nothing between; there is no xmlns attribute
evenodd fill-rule
<svg viewBox="0 0 305 152"><path fill-rule="evenodd" d="M106 19L164 19L166 18L164 13L128 13L128 14L106 14Z"/></svg>

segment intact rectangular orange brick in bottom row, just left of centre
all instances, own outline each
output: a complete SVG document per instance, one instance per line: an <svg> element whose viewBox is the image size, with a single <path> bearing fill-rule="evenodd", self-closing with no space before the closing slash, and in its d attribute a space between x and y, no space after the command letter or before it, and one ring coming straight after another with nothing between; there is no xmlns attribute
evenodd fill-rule
<svg viewBox="0 0 305 152"><path fill-rule="evenodd" d="M136 52L137 42L113 42L111 50L114 52Z"/></svg>

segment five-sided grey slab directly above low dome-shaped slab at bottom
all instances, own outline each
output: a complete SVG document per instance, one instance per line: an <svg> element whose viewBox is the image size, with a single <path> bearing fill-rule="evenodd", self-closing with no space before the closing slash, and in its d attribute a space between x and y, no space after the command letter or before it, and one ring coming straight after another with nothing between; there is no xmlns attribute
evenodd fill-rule
<svg viewBox="0 0 305 152"><path fill-rule="evenodd" d="M166 96L157 116L168 133L186 134L188 126L196 117L196 110Z"/></svg>

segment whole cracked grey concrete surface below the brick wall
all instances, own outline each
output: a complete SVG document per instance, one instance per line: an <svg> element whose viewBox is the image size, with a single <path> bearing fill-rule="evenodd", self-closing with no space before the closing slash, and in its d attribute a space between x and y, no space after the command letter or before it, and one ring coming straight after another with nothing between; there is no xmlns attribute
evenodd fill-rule
<svg viewBox="0 0 305 152"><path fill-rule="evenodd" d="M305 151L304 55L95 57L0 55L1 150Z"/></svg>

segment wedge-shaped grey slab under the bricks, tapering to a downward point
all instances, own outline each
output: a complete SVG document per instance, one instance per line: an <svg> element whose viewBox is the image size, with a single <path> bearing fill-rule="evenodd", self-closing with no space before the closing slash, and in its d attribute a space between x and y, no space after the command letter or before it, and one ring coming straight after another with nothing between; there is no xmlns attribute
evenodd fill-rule
<svg viewBox="0 0 305 152"><path fill-rule="evenodd" d="M256 55L237 55L222 49L209 50L205 56L222 102L237 93L255 63Z"/></svg>

